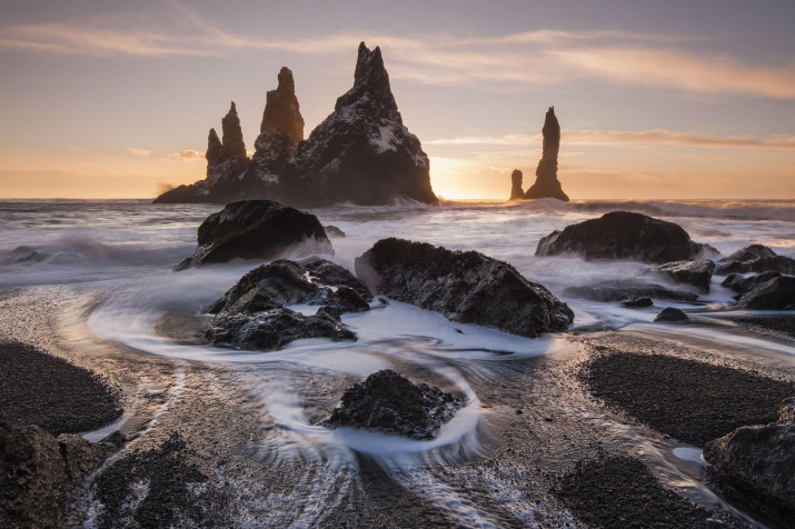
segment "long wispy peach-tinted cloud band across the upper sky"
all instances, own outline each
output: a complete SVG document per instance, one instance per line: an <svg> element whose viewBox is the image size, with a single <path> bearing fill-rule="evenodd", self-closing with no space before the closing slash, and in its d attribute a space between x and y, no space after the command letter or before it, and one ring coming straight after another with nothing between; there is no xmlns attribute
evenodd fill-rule
<svg viewBox="0 0 795 529"><path fill-rule="evenodd" d="M759 67L726 54L687 49L693 42L710 39L708 36L536 30L481 38L340 33L262 39L225 30L178 1L168 4L180 22L179 30L176 23L172 30L157 31L149 27L119 29L118 23L96 20L85 26L2 24L0 51L135 57L226 57L249 51L331 56L349 54L358 41L365 40L384 48L394 79L424 84L494 92L600 80L653 90L795 99L795 62Z"/></svg>

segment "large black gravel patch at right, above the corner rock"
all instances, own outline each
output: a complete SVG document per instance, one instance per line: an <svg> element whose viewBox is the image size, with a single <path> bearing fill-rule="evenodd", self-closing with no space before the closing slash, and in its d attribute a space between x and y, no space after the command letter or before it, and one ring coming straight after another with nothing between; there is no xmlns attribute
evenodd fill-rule
<svg viewBox="0 0 795 529"><path fill-rule="evenodd" d="M776 421L782 401L795 396L794 383L662 355L600 355L580 378L595 397L697 447L742 426Z"/></svg>

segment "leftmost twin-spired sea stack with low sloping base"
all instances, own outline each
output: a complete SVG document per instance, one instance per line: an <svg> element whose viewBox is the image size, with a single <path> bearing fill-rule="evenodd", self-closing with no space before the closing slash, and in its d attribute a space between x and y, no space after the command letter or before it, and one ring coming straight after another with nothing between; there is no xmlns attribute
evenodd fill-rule
<svg viewBox="0 0 795 529"><path fill-rule="evenodd" d="M179 186L155 199L155 203L228 203L245 198L240 181L249 164L240 119L232 101L221 120L223 141L216 129L207 138L207 178L190 186Z"/></svg>

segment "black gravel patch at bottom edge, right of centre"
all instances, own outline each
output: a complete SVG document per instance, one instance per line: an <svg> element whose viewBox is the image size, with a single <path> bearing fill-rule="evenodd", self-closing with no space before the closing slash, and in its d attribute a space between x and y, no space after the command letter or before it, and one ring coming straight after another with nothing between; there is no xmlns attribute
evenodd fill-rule
<svg viewBox="0 0 795 529"><path fill-rule="evenodd" d="M665 489L642 461L626 456L578 461L551 493L592 528L718 526L710 511Z"/></svg>

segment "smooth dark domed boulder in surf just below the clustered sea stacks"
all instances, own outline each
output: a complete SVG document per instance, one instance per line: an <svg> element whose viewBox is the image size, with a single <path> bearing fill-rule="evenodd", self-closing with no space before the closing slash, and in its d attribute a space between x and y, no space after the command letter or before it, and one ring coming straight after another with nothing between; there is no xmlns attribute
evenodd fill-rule
<svg viewBox="0 0 795 529"><path fill-rule="evenodd" d="M334 252L314 214L270 200L233 202L205 219L193 256L176 270L231 259L271 259L306 241L318 253Z"/></svg>

